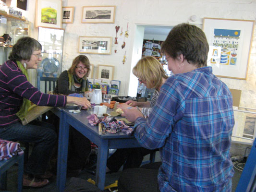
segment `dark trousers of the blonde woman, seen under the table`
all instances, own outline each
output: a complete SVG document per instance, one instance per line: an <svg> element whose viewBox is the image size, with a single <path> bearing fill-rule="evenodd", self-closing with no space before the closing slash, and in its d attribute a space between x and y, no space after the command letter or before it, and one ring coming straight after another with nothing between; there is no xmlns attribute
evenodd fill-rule
<svg viewBox="0 0 256 192"><path fill-rule="evenodd" d="M155 150L149 150L143 147L140 148L125 148L117 149L116 152L108 158L107 167L117 172L123 165L123 170L127 168L139 168L144 156Z"/></svg>

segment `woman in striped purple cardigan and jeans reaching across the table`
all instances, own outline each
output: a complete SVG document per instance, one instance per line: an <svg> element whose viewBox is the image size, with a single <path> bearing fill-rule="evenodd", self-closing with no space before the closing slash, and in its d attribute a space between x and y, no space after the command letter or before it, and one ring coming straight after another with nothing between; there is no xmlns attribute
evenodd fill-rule
<svg viewBox="0 0 256 192"><path fill-rule="evenodd" d="M46 172L57 134L54 126L39 120L23 125L31 107L63 107L73 103L88 108L86 98L41 93L28 81L27 69L37 69L41 58L41 44L31 38L20 38L12 47L9 60L0 66L0 138L10 141L34 143L24 168L23 185L42 187L49 183L51 173Z"/></svg>

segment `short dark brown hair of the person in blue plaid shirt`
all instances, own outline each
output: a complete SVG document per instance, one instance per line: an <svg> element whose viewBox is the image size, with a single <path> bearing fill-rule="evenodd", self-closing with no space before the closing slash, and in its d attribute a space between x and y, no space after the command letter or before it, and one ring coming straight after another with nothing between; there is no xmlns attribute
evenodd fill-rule
<svg viewBox="0 0 256 192"><path fill-rule="evenodd" d="M207 66L209 45L202 29L191 24L174 26L166 40L161 44L161 52L171 58L183 54L184 58L197 68Z"/></svg>

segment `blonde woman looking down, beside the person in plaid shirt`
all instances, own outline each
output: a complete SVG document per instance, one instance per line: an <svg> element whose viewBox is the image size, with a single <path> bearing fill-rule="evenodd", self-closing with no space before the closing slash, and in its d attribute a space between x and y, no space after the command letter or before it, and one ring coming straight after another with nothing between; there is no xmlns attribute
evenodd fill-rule
<svg viewBox="0 0 256 192"><path fill-rule="evenodd" d="M147 118L152 111L152 107L155 106L160 88L166 82L168 76L159 61L152 56L146 56L140 59L133 68L133 73L140 83L146 85L146 88L155 88L155 92L151 101L137 102L129 100L125 104L122 104L122 106L126 108L131 106L138 107L144 117ZM107 171L116 172L122 165L123 169L138 168L142 163L143 157L153 151L155 150L146 148L117 149L107 161Z"/></svg>

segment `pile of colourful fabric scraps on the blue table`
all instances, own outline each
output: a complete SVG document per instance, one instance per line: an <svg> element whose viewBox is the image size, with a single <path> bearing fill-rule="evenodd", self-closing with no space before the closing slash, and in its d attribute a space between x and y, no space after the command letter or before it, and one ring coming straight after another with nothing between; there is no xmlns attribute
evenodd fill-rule
<svg viewBox="0 0 256 192"><path fill-rule="evenodd" d="M94 126L98 123L101 123L102 126L102 133L105 134L106 132L109 133L117 133L117 132L125 132L126 134L131 134L133 132L133 129L126 125L122 120L116 120L110 122L110 117L100 117L98 119L96 114L92 114L87 116L87 119L89 120L89 124Z"/></svg>

